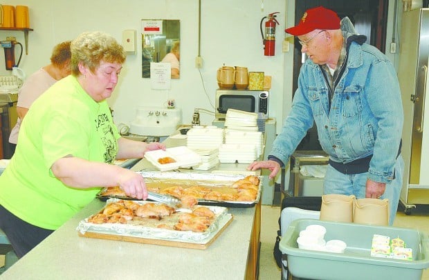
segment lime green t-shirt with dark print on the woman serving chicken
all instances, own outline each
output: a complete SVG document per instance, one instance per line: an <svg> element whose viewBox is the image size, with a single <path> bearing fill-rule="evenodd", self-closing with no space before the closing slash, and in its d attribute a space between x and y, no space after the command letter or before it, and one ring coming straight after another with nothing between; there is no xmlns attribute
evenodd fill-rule
<svg viewBox="0 0 429 280"><path fill-rule="evenodd" d="M65 186L53 176L53 163L69 154L113 163L119 137L107 101L95 102L73 76L58 81L22 122L17 150L0 176L0 204L34 226L56 230L100 188Z"/></svg>

